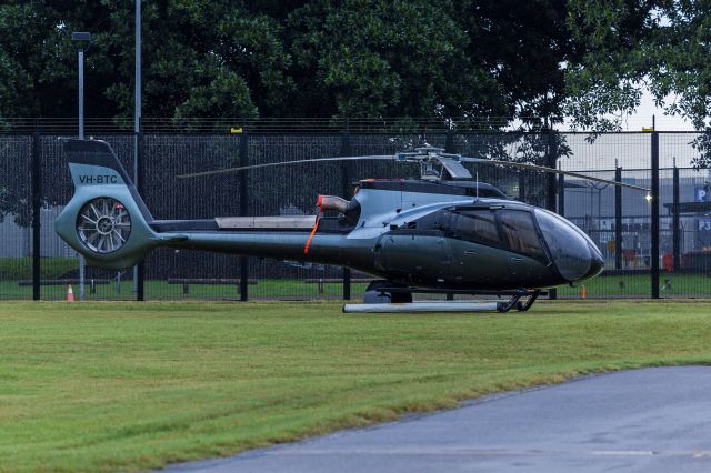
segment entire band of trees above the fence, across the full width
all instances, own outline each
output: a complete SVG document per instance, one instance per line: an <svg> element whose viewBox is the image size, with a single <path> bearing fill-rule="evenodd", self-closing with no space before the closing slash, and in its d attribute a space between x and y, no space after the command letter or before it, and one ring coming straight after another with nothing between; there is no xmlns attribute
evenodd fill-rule
<svg viewBox="0 0 711 473"><path fill-rule="evenodd" d="M134 0L0 6L0 117L131 117ZM643 87L708 125L701 0L143 2L144 117L571 117L613 129Z"/></svg>

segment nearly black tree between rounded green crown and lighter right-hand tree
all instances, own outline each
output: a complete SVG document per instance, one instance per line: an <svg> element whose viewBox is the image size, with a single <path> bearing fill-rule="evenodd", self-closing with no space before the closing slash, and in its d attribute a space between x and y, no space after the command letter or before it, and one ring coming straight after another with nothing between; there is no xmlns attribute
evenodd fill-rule
<svg viewBox="0 0 711 473"><path fill-rule="evenodd" d="M467 56L499 84L504 117L542 125L561 117L563 63L577 63L581 44L567 28L567 0L463 1L455 18L468 32Z"/></svg>

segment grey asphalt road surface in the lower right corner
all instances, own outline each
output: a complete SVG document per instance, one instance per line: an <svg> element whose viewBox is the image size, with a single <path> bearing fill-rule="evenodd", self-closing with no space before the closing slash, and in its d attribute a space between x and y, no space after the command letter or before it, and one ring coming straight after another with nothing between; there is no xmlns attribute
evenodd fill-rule
<svg viewBox="0 0 711 473"><path fill-rule="evenodd" d="M711 368L583 378L170 472L711 471Z"/></svg>

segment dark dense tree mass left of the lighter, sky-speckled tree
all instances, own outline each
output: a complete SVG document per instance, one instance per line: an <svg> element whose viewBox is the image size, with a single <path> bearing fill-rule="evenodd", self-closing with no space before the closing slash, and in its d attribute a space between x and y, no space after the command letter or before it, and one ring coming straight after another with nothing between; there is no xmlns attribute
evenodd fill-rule
<svg viewBox="0 0 711 473"><path fill-rule="evenodd" d="M88 115L132 115L133 4L0 6L0 117L76 114L81 30ZM142 18L144 117L551 115L577 57L564 0L159 0Z"/></svg>

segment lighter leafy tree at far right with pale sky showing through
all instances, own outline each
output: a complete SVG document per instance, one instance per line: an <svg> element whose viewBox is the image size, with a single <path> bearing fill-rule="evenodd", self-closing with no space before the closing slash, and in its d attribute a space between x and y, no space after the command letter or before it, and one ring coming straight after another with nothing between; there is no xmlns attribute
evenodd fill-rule
<svg viewBox="0 0 711 473"><path fill-rule="evenodd" d="M569 0L568 28L585 42L567 70L567 105L578 125L615 129L643 88L665 111L708 128L711 3L701 0ZM608 113L607 117L603 114Z"/></svg>

